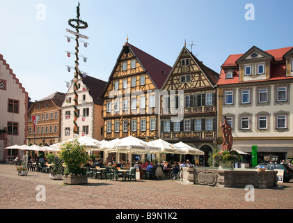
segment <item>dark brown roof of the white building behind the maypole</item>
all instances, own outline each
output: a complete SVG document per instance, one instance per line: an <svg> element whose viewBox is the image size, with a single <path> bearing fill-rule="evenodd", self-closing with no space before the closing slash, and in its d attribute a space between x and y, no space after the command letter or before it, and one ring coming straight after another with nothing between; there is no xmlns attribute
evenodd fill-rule
<svg viewBox="0 0 293 223"><path fill-rule="evenodd" d="M86 85L95 104L102 105L103 100L101 99L101 95L104 92L107 82L88 75L82 78L82 82Z"/></svg>

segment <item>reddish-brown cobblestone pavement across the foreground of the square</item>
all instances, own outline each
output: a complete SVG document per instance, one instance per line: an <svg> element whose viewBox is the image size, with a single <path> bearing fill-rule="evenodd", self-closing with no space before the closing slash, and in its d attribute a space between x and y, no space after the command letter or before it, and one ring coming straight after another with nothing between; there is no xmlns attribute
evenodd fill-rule
<svg viewBox="0 0 293 223"><path fill-rule="evenodd" d="M37 201L38 185L45 201ZM278 209L293 208L293 183L248 191L184 184L167 178L136 182L89 179L87 185L64 185L49 174L30 171L17 176L15 166L0 164L0 209Z"/></svg>

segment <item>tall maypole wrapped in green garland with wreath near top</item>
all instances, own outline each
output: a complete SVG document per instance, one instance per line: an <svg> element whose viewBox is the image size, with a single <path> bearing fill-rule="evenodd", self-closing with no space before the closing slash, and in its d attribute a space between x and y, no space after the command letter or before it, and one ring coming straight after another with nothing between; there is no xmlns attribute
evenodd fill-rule
<svg viewBox="0 0 293 223"><path fill-rule="evenodd" d="M74 72L74 138L77 137L77 105L78 105L78 95L77 95L77 90L78 90L78 86L77 86L77 80L78 80L78 76L80 75L80 71L79 71L79 38L84 38L84 39L88 39L87 36L81 35L79 33L79 29L86 29L88 28L88 23L84 22L83 20L80 20L80 13L79 13L79 6L80 3L77 6L77 19L70 19L68 20L68 24L74 28L76 30L76 32L71 31L69 29L66 29L66 31L68 31L69 33L71 33L72 35L75 36L75 41L77 43L76 47L75 47L75 72ZM72 24L72 22L76 22L76 24Z"/></svg>

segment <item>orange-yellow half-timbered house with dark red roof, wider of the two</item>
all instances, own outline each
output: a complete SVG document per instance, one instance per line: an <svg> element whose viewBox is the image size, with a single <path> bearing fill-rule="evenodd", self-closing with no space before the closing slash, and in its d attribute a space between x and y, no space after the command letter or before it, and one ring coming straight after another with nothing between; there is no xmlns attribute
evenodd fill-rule
<svg viewBox="0 0 293 223"><path fill-rule="evenodd" d="M159 137L159 89L171 67L129 43L111 72L104 100L104 139Z"/></svg>

